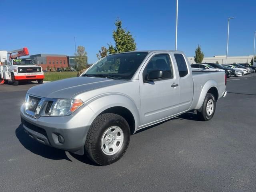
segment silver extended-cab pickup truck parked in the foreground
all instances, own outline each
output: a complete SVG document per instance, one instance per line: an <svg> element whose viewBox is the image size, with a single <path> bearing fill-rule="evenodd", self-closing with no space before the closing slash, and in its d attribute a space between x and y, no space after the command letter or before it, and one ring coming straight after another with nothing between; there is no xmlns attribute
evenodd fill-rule
<svg viewBox="0 0 256 192"><path fill-rule="evenodd" d="M225 72L192 72L183 52L126 52L102 58L80 77L30 88L20 115L38 142L107 165L142 128L189 110L210 120L225 89Z"/></svg>

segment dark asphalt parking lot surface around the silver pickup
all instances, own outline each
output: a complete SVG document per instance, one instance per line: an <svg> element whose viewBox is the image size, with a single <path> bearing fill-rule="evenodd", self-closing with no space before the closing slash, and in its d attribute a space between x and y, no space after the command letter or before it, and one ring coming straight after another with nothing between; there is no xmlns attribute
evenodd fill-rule
<svg viewBox="0 0 256 192"><path fill-rule="evenodd" d="M0 85L0 191L256 191L256 74L227 83L212 120L142 130L109 166L30 138L19 108L37 84Z"/></svg>

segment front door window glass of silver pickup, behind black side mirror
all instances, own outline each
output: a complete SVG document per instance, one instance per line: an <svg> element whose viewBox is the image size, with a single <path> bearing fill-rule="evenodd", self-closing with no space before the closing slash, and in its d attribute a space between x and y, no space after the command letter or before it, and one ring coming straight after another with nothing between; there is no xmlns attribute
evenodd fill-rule
<svg viewBox="0 0 256 192"><path fill-rule="evenodd" d="M164 71L164 78L160 80L172 78L172 68L168 54L153 56L143 72L144 78L146 78L151 71Z"/></svg>

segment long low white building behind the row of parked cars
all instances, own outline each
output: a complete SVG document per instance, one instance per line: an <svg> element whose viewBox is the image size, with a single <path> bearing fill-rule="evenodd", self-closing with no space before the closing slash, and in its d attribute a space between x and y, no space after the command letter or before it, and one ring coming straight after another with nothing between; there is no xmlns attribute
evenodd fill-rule
<svg viewBox="0 0 256 192"><path fill-rule="evenodd" d="M228 56L228 64L232 63L250 63L252 59L252 55L249 56ZM190 64L196 63L194 61L194 57L188 57L188 61ZM219 64L226 64L226 55L215 55L213 57L204 57L202 63L216 63L218 61Z"/></svg>

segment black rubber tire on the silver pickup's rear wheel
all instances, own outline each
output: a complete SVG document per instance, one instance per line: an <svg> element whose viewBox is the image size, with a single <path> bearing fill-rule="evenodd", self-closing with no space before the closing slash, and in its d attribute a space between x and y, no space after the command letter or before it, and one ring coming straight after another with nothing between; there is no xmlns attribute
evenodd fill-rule
<svg viewBox="0 0 256 192"><path fill-rule="evenodd" d="M211 100L211 101L210 101ZM210 104L210 106L213 107L209 107L212 110L207 110L207 104ZM212 103L211 103L212 102ZM212 104L212 105L211 105ZM211 93L207 93L205 98L204 98L204 102L202 105L201 110L197 111L198 117L200 118L200 120L202 121L208 121L211 120L212 117L214 116L215 113L215 109L216 109L216 100L213 94ZM212 112L211 112L212 111Z"/></svg>

